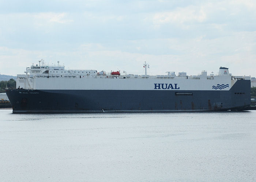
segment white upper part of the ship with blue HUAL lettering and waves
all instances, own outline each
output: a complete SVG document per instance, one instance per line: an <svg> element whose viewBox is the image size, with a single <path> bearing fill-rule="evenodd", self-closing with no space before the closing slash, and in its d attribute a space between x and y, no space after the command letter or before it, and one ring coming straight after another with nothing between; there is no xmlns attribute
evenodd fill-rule
<svg viewBox="0 0 256 182"><path fill-rule="evenodd" d="M41 62L41 61L40 61ZM236 80L249 76L232 76L228 68L221 67L219 74L201 74L188 76L186 72L166 72L167 75L124 74L97 70L65 70L64 66L32 65L26 74L17 75L17 88L38 90L229 90ZM119 74L116 74L119 73Z"/></svg>

